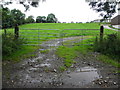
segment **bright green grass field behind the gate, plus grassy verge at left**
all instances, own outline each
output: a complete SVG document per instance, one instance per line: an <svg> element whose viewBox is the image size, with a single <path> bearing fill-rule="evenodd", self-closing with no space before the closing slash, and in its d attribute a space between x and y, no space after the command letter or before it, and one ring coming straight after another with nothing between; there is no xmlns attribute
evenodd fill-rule
<svg viewBox="0 0 120 90"><path fill-rule="evenodd" d="M71 36L98 36L99 30L64 30L64 29L99 29L99 23L33 23L25 24L19 26L20 36L26 38L28 44L38 44L42 41L54 39L54 38L64 38ZM23 30L28 29L28 30ZM29 29L59 29L59 30L29 30ZM116 31L104 30L104 34L115 33ZM0 33L4 33L3 30ZM14 33L14 29L7 29L7 33ZM38 35L39 33L39 35ZM66 34L65 34L66 33ZM33 42L31 42L33 41ZM35 47L38 46L23 46L23 49L16 51L11 56L6 56L7 59L21 58L24 54L33 52ZM36 48L37 49L37 48ZM29 56L29 55L28 55Z"/></svg>

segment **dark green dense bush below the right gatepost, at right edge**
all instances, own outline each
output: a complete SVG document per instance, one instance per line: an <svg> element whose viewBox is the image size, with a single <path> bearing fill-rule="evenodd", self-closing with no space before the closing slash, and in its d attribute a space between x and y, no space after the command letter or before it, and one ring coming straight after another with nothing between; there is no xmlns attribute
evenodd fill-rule
<svg viewBox="0 0 120 90"><path fill-rule="evenodd" d="M120 58L120 36L118 34L109 34L102 41L96 38L94 50Z"/></svg>

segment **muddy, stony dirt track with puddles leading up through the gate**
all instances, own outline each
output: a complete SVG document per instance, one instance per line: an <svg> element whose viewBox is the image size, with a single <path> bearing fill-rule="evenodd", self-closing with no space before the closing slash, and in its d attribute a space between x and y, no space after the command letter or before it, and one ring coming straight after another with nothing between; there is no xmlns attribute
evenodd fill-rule
<svg viewBox="0 0 120 90"><path fill-rule="evenodd" d="M114 68L96 60L98 53L82 54L76 58L67 71L61 72L63 65L55 55L58 46L67 40L81 37L70 37L44 42L36 58L29 58L14 65L3 65L3 88L95 88L118 87L118 74ZM49 50L48 53L40 51Z"/></svg>

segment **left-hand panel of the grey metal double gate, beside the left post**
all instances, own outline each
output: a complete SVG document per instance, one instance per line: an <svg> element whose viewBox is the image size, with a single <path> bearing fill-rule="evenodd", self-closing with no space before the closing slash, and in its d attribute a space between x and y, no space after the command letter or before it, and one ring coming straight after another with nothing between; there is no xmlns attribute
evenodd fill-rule
<svg viewBox="0 0 120 90"><path fill-rule="evenodd" d="M59 29L20 29L19 36L26 39L26 44L39 46L44 41L60 37Z"/></svg>

